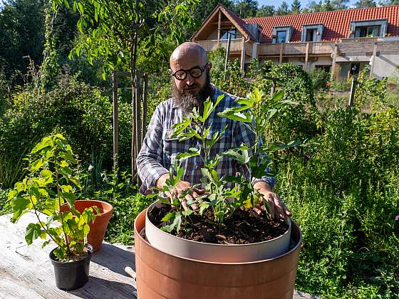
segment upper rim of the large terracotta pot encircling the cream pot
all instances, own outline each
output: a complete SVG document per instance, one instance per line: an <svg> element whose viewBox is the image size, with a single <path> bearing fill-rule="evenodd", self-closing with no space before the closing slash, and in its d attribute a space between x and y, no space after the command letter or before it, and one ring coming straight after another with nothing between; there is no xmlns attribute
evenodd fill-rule
<svg viewBox="0 0 399 299"><path fill-rule="evenodd" d="M147 217L147 210L148 210L148 209L145 209L145 210L141 211L140 214L138 214L137 218L135 219L134 230L137 232L137 234L135 234L135 236L138 236L138 238L140 238L142 242L145 242L147 245L151 246L151 248L155 249L156 251L159 251L159 252L161 252L161 253L163 253L163 254L167 254L167 255L169 255L169 256L175 256L175 255L172 255L172 254L170 254L170 253L166 253L165 251L162 251L162 250L160 250L160 249L155 248L154 246L152 246L152 245L150 244L150 242L146 241L145 238L142 237L142 235L140 234L141 231L138 231L138 228L137 228L137 219L139 219L139 217L144 217L144 218L146 218L146 217ZM289 255L289 254L293 253L294 251L296 251L296 250L298 249L298 247L301 246L301 243L302 243L302 231L301 231L301 229L299 229L299 226L295 223L294 220L291 220L291 219L290 219L290 224L294 224L294 225L291 225L291 228L292 228L293 226L296 226L296 228L298 229L298 232L299 232L299 241L296 242L295 246L294 246L293 248L291 248L289 251L287 251L286 253L281 254L280 256L276 256L276 257L274 257L274 258L266 258L266 259L259 260L259 261L230 262L230 263L229 263L229 262L202 261L202 260L196 260L196 259L194 259L194 258L186 258L186 257L184 257L184 256L175 256L175 258L182 258L182 259L187 260L187 261L193 261L193 262L197 262L197 263L209 263L209 264L215 264L215 265L244 265L244 264L249 264L249 263L257 264L257 263L264 263L265 261L271 261L271 260L276 260L276 259L278 259L278 258L283 258L284 256ZM156 227L156 226L155 226L155 227ZM144 227L143 227L143 229L145 229L145 219L144 219ZM291 229L291 231L292 231L292 229ZM165 233L165 231L164 231L164 233ZM165 234L167 234L167 233L165 233ZM281 236L282 236L282 235L281 235ZM176 237L176 236L174 236L174 237L175 237L175 238L179 238L179 237ZM291 239L291 237L290 237L290 239ZM192 242L195 242L195 241L192 241ZM197 242L197 243L202 243L202 242ZM202 243L202 244L204 244L204 243ZM205 243L205 244L206 244L206 243ZM223 245L223 244L214 244L214 245L229 246L229 245ZM236 244L236 245L237 245L237 244ZM238 245L239 245L239 246L243 246L243 245L251 245L251 244L238 244Z"/></svg>

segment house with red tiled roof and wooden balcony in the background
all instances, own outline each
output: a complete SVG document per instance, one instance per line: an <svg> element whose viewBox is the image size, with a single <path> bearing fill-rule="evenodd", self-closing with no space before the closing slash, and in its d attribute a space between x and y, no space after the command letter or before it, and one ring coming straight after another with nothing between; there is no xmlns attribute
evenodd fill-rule
<svg viewBox="0 0 399 299"><path fill-rule="evenodd" d="M348 78L371 65L383 78L399 65L399 5L240 19L219 4L191 39L208 52L227 48L242 69L258 58Z"/></svg>

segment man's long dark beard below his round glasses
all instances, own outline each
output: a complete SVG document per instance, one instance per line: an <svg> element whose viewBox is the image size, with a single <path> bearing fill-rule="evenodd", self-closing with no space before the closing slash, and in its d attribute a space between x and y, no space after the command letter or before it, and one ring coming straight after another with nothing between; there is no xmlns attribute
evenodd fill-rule
<svg viewBox="0 0 399 299"><path fill-rule="evenodd" d="M198 95L192 95L191 93L186 94L185 90L179 90L176 86L175 80L173 79L172 86L173 103L182 110L183 115L189 115L194 107L198 107L201 112L204 107L204 101L213 93L209 72L207 72L204 87L199 90Z"/></svg>

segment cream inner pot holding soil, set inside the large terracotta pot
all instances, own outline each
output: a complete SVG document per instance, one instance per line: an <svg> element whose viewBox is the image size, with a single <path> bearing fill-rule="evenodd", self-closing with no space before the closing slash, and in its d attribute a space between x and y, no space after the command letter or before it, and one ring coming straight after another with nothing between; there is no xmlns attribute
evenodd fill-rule
<svg viewBox="0 0 399 299"><path fill-rule="evenodd" d="M160 208L162 203L155 201L148 207L145 216L145 237L152 246L172 256L217 263L240 263L275 258L289 250L291 220L289 220L289 229L283 235L269 241L231 245L202 243L178 238L158 229L148 218L148 211L151 211L155 206Z"/></svg>

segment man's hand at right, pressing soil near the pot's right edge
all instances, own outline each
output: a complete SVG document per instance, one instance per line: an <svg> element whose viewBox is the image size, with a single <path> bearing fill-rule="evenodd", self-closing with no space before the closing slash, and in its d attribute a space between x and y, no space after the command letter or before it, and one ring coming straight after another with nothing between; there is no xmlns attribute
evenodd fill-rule
<svg viewBox="0 0 399 299"><path fill-rule="evenodd" d="M291 212L286 208L284 202L277 194L271 191L269 184L265 182L257 182L257 184L254 184L254 188L262 194L264 200L269 202L269 214L271 219L285 219L286 216L291 216ZM261 203L260 205L255 206L255 211L257 211L258 214L261 214L261 209L264 208L264 204Z"/></svg>

